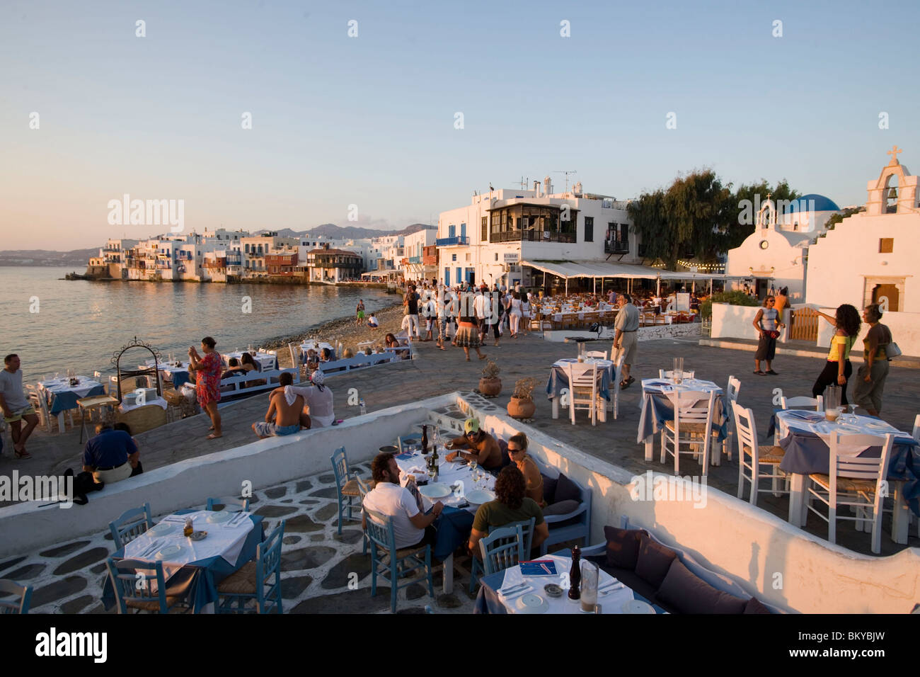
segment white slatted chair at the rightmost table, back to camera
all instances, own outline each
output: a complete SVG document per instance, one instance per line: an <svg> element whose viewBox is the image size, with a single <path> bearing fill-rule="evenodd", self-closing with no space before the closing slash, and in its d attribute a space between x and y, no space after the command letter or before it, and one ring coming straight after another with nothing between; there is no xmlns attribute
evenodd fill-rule
<svg viewBox="0 0 920 677"><path fill-rule="evenodd" d="M827 522L827 540L836 543L838 519L856 520L857 531L861 523L872 520L872 552L881 553L881 513L882 503L888 496L887 483L888 461L894 436L876 435L842 435L839 430L831 434L830 473L811 473L809 475L808 509ZM847 447L881 447L877 457L856 456L841 449ZM885 483L885 484L883 484ZM828 514L824 517L821 510L811 506L817 498L827 506ZM856 516L842 516L837 506L855 508Z"/></svg>

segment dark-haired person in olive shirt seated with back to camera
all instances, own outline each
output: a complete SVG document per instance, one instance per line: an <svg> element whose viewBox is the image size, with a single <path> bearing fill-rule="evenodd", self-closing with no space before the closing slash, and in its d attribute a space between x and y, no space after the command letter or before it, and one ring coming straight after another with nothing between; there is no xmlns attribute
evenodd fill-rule
<svg viewBox="0 0 920 677"><path fill-rule="evenodd" d="M526 493L527 482L517 466L509 465L499 473L495 481L495 500L479 506L473 518L473 531L469 534L469 543L466 543L469 554L481 559L479 541L488 536L489 531L531 518L534 518L531 548L538 548L540 543L549 538L549 527L543 519L543 510L533 498L525 496ZM526 553L524 555L529 556Z"/></svg>

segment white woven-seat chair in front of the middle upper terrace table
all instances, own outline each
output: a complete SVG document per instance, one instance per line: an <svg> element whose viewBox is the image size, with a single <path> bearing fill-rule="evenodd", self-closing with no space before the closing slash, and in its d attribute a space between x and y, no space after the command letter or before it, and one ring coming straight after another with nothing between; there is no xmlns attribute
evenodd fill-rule
<svg viewBox="0 0 920 677"><path fill-rule="evenodd" d="M712 447L712 416L715 411L716 391L669 392L674 406L674 417L661 428L661 462L668 456L674 459L674 474L680 474L681 454L695 458L702 453L703 474L709 470L709 449ZM682 451L681 446L686 446ZM699 447L703 448L702 451ZM696 449L692 449L696 447Z"/></svg>

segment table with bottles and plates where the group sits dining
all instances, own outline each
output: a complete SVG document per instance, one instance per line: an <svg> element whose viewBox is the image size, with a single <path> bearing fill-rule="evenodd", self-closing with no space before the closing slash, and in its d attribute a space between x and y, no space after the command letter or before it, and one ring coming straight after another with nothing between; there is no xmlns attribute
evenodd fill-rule
<svg viewBox="0 0 920 677"><path fill-rule="evenodd" d="M477 501L487 502L495 497L495 477L480 469L482 477L476 480L473 468L467 461L447 461L445 456L450 453L450 449L443 449L443 446L439 445L438 481L432 483L427 471L431 454L423 456L420 444L407 445L405 442L406 440L403 443L403 453L396 457L400 484L408 484L409 475L415 478L416 484L419 484L424 512L428 512L437 501L441 501L444 506L431 554L443 562L443 591L444 594L451 594L454 591L454 550L469 540L473 518L481 505ZM457 455L456 458L460 459L460 456ZM438 496L445 491L446 496ZM481 496L474 494L476 500L471 501L469 495L474 491L485 493Z"/></svg>

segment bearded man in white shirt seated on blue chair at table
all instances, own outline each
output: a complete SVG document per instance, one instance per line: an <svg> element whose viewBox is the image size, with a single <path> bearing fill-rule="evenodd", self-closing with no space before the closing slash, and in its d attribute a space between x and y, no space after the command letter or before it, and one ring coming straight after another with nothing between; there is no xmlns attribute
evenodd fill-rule
<svg viewBox="0 0 920 677"><path fill-rule="evenodd" d="M371 473L376 484L364 496L363 506L393 518L397 549L434 543L437 531L432 524L441 515L443 503L438 501L431 507L431 512L423 514L416 504L415 496L399 485L399 467L393 454L377 454L371 464ZM367 528L367 519L367 514L362 513L364 529Z"/></svg>

